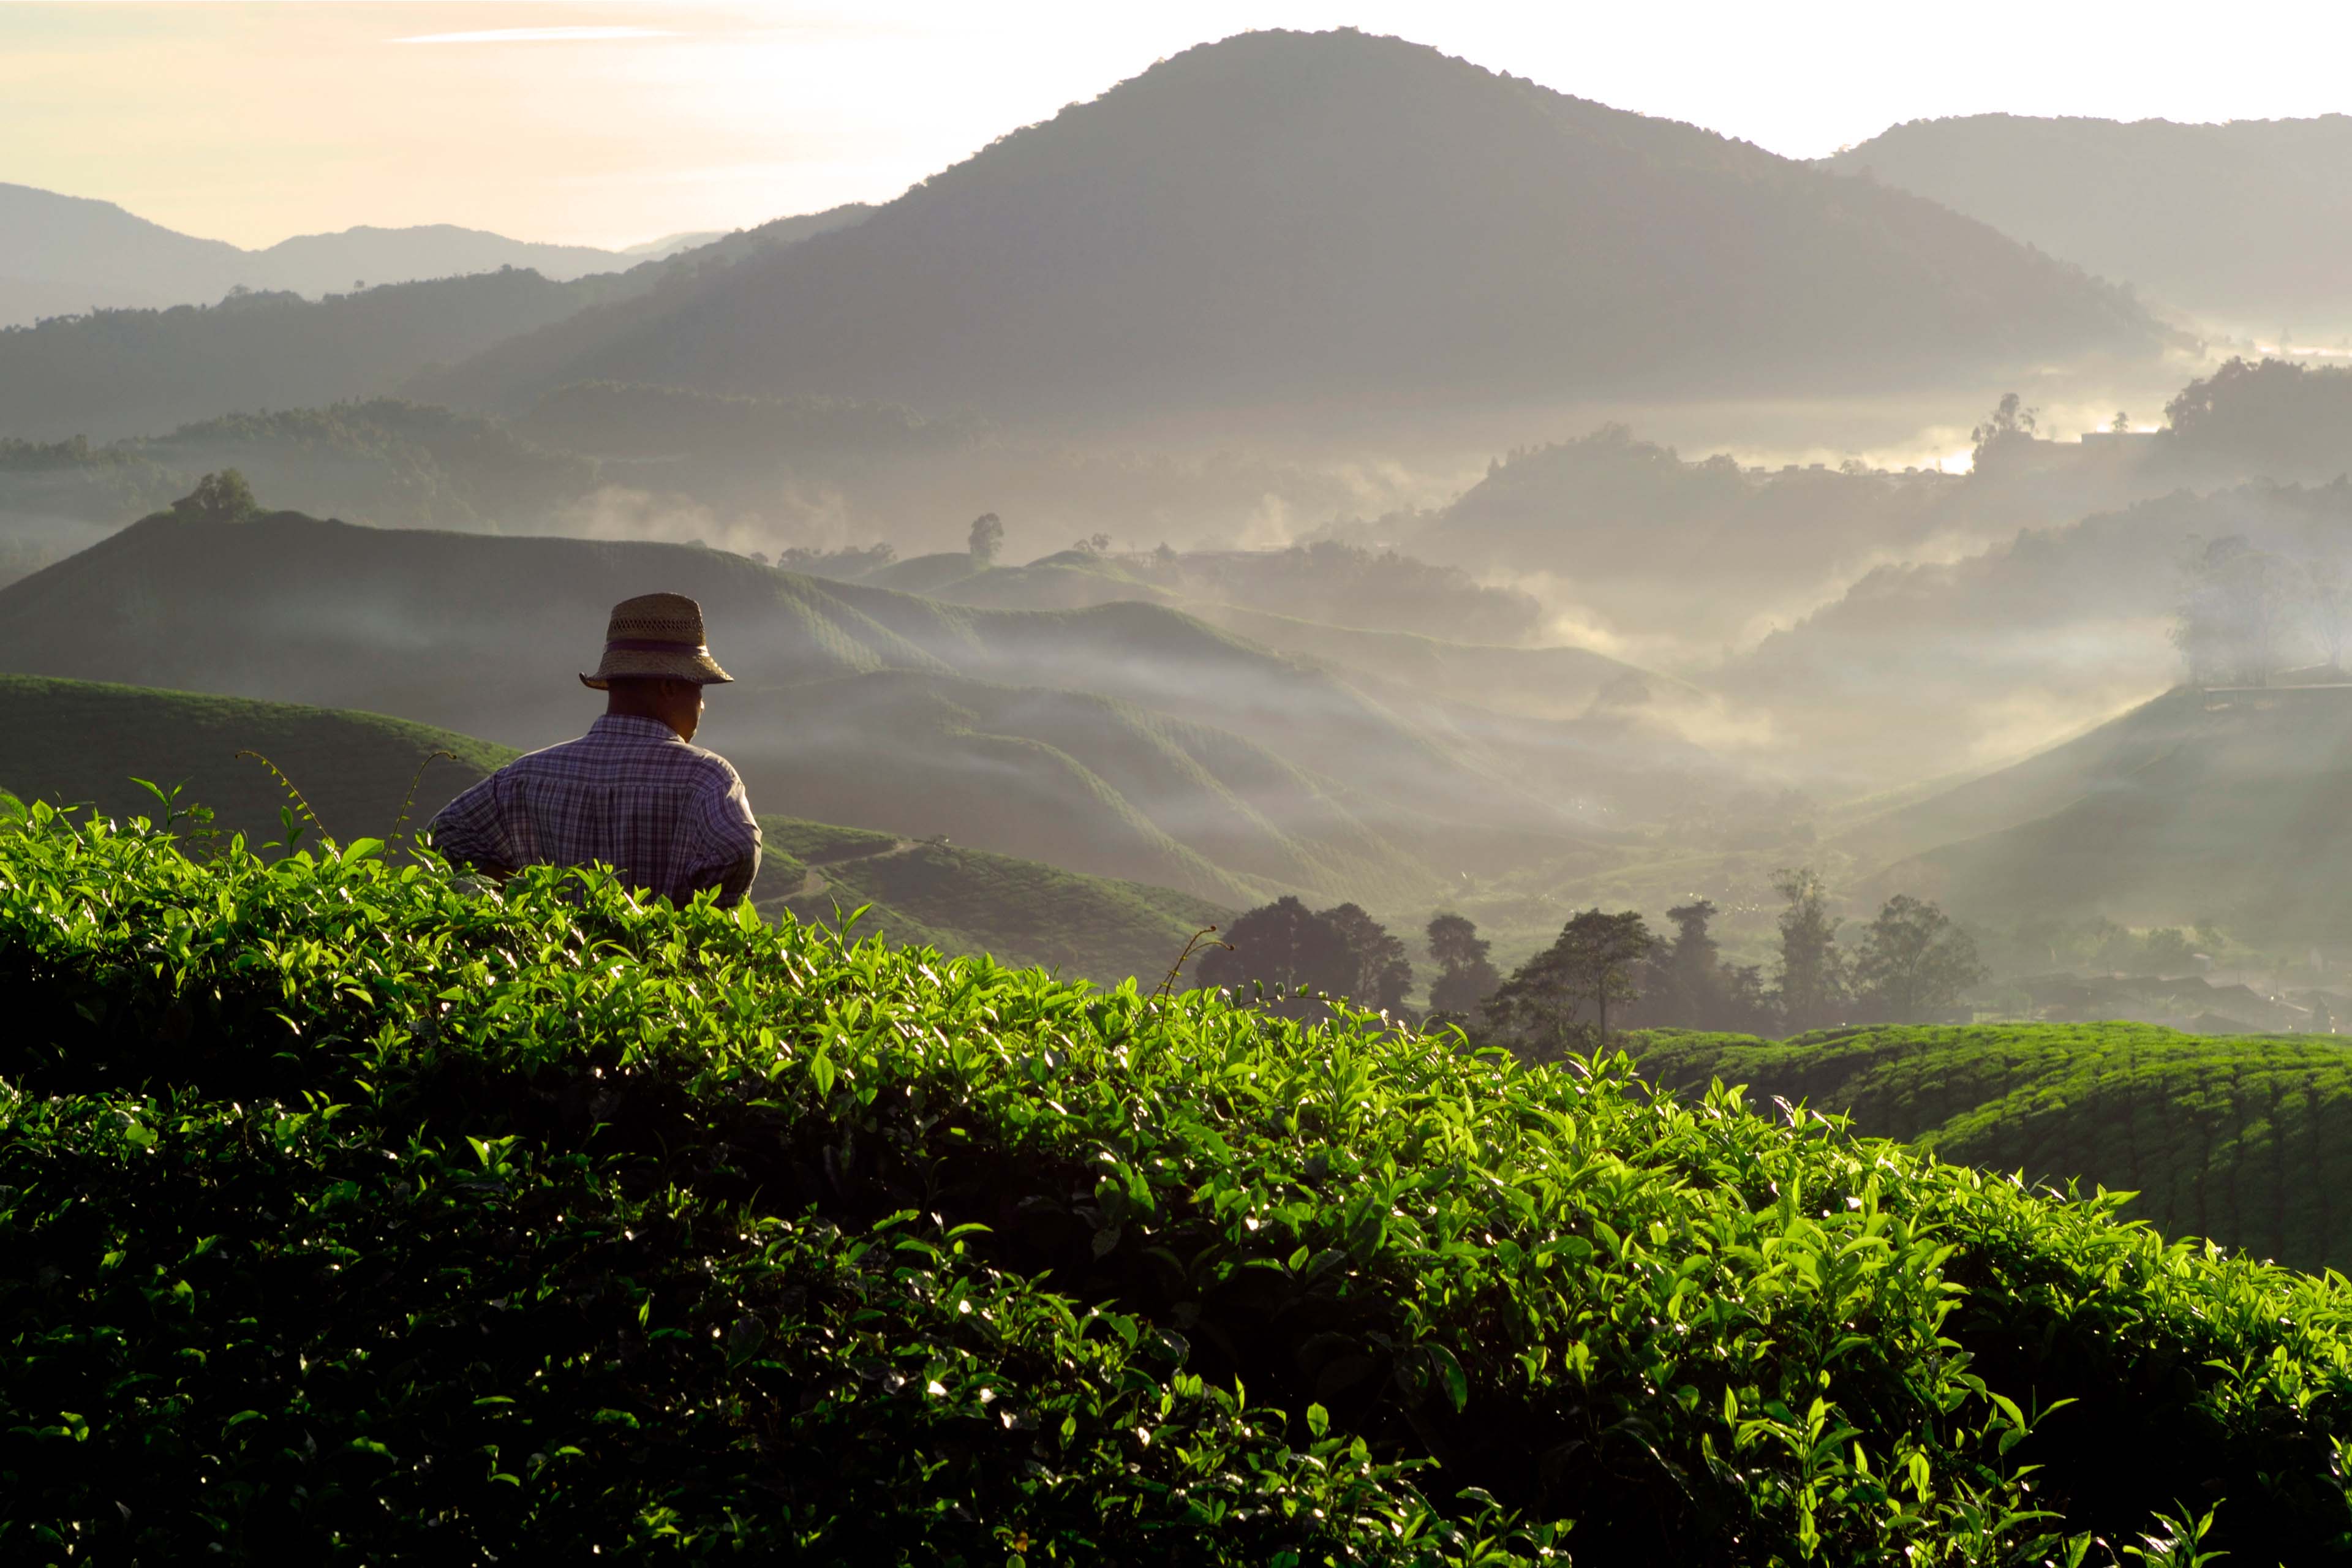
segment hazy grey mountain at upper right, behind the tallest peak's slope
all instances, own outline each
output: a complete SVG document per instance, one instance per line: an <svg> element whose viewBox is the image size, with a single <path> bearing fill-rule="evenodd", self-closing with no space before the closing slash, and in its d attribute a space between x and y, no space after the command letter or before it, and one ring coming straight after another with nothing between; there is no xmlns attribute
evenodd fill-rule
<svg viewBox="0 0 2352 1568"><path fill-rule="evenodd" d="M1912 120L1828 160L2239 331L2352 331L2352 115Z"/></svg>

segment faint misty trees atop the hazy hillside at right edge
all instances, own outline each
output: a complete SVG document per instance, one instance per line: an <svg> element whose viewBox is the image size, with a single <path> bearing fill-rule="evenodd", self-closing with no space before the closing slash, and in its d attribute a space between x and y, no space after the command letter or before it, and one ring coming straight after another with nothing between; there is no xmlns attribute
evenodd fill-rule
<svg viewBox="0 0 2352 1568"><path fill-rule="evenodd" d="M2173 646L2201 686L2267 686L2298 665L2343 670L2352 590L2328 555L2291 557L2244 534L2197 541L2180 564Z"/></svg>

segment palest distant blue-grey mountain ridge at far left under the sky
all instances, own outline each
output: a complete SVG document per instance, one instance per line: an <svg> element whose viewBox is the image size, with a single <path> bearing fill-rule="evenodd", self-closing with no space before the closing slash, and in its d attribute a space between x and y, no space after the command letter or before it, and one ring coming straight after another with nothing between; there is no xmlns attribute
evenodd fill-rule
<svg viewBox="0 0 2352 1568"><path fill-rule="evenodd" d="M198 306L230 289L318 299L386 282L532 268L553 282L623 273L720 235L691 233L621 252L539 244L480 228L346 228L266 249L198 240L113 202L0 183L0 327L94 308Z"/></svg>

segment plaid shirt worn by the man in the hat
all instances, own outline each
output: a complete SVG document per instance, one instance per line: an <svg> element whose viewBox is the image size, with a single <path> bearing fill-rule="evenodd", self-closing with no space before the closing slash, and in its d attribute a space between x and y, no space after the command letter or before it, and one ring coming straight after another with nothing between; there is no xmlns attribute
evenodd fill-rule
<svg viewBox="0 0 2352 1568"><path fill-rule="evenodd" d="M661 719L604 715L579 741L517 757L442 806L430 832L482 870L602 863L680 905L703 889L736 903L760 872L743 780Z"/></svg>

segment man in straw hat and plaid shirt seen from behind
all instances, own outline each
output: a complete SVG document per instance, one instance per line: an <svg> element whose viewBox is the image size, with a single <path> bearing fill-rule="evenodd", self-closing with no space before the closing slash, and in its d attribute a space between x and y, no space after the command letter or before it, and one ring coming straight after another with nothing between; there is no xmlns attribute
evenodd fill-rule
<svg viewBox="0 0 2352 1568"><path fill-rule="evenodd" d="M614 604L604 658L581 677L609 693L604 717L442 806L433 846L492 877L604 863L677 905L703 889L736 903L760 872L760 823L727 759L687 745L703 686L729 679L694 599L647 592Z"/></svg>

